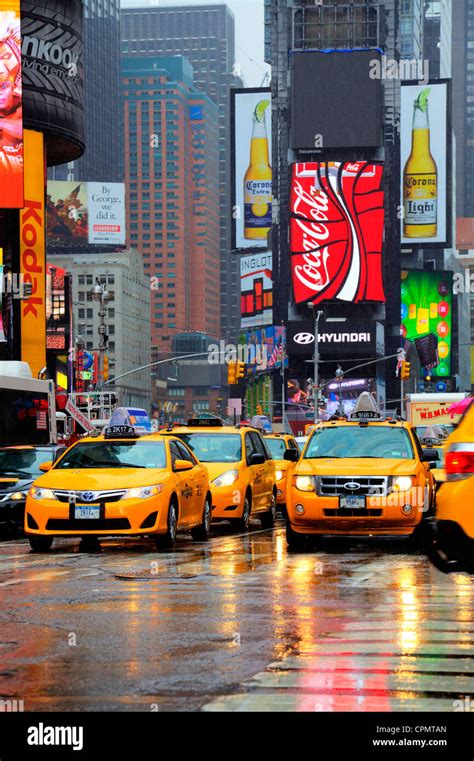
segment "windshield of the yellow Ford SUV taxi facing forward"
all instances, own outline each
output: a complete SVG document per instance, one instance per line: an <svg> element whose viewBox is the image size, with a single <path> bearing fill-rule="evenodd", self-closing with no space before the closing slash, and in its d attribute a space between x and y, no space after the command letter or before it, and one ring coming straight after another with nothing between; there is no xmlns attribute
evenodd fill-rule
<svg viewBox="0 0 474 761"><path fill-rule="evenodd" d="M415 455L410 436L403 428L347 425L315 431L305 460L320 457L413 460Z"/></svg>

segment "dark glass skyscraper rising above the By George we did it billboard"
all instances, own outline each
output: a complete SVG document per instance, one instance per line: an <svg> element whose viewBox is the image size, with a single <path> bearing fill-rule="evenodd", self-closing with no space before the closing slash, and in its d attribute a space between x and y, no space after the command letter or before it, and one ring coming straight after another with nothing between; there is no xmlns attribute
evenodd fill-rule
<svg viewBox="0 0 474 761"><path fill-rule="evenodd" d="M120 0L84 0L86 150L50 179L123 182Z"/></svg>

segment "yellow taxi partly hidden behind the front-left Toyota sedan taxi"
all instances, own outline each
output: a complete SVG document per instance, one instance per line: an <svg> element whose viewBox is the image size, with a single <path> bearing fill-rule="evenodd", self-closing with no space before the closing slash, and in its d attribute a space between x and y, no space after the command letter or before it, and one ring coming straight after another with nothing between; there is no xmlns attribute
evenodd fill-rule
<svg viewBox="0 0 474 761"><path fill-rule="evenodd" d="M246 530L250 516L265 528L276 517L275 462L256 428L235 428L218 418L191 419L163 432L177 436L208 470L212 520Z"/></svg>

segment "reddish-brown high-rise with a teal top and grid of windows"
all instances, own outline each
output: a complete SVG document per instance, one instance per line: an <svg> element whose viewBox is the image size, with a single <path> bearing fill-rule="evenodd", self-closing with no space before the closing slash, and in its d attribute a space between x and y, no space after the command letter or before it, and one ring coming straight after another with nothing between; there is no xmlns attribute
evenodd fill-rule
<svg viewBox="0 0 474 761"><path fill-rule="evenodd" d="M151 285L152 346L199 331L218 337L217 106L182 56L124 59L128 231Z"/></svg>

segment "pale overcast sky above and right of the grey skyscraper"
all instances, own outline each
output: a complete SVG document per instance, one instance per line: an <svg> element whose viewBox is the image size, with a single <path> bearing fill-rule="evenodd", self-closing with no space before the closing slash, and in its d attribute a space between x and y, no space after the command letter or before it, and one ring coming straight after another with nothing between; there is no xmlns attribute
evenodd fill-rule
<svg viewBox="0 0 474 761"><path fill-rule="evenodd" d="M269 66L263 59L264 0L121 0L122 8L163 8L172 5L228 5L235 16L236 63L246 87L259 87Z"/></svg>

